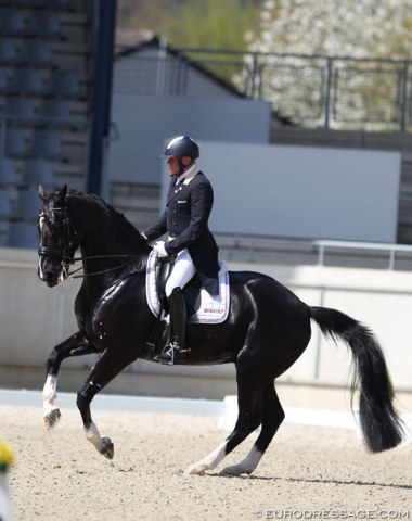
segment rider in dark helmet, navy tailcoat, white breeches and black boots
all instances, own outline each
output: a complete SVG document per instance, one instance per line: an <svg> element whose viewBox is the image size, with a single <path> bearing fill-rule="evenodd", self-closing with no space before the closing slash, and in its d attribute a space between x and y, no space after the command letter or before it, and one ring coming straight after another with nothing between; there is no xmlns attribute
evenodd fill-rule
<svg viewBox="0 0 412 521"><path fill-rule="evenodd" d="M219 294L218 247L208 228L214 204L209 180L196 165L197 143L189 136L177 136L166 143L162 157L167 158L171 176L166 209L143 236L153 241L167 232L166 241L157 241L154 250L159 257L175 258L166 282L169 304L169 343L156 360L172 365L185 350L186 312L182 289L197 274L210 295Z"/></svg>

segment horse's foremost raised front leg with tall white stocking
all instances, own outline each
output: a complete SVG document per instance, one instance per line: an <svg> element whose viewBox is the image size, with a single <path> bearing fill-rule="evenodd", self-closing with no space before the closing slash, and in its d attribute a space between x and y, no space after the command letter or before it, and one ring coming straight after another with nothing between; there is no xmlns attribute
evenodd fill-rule
<svg viewBox="0 0 412 521"><path fill-rule="evenodd" d="M72 356L89 355L94 352L95 350L90 344L90 342L85 339L80 331L78 331L61 344L56 345L50 353L48 358L46 382L42 393L44 410L43 419L47 429L51 429L56 425L61 418L61 412L59 408L53 405L54 399L56 398L57 373L60 365L65 358Z"/></svg>

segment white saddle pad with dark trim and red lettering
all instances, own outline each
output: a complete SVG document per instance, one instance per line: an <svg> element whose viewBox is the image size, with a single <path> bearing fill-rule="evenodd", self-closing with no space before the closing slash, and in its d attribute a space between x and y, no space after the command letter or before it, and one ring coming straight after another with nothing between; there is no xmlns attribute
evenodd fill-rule
<svg viewBox="0 0 412 521"><path fill-rule="evenodd" d="M157 294L156 254L151 252L147 259L146 298L151 312L157 317L160 313L160 301ZM188 322L221 323L229 315L229 272L224 262L220 262L219 294L211 296L204 288L184 288Z"/></svg>

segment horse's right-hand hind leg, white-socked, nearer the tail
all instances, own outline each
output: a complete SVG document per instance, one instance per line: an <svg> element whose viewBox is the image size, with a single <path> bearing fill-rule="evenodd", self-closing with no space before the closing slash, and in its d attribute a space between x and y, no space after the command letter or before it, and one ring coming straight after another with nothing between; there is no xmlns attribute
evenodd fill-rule
<svg viewBox="0 0 412 521"><path fill-rule="evenodd" d="M270 383L263 391L261 398L261 431L252 450L237 465L232 465L222 470L226 475L250 474L258 466L261 457L281 425L285 414L282 409L276 391Z"/></svg>

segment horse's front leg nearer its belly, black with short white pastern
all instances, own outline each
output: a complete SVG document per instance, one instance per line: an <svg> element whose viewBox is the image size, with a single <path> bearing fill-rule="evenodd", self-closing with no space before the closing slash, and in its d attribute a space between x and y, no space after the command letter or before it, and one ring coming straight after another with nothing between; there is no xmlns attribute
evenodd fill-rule
<svg viewBox="0 0 412 521"><path fill-rule="evenodd" d="M77 393L77 407L83 421L87 440L100 454L108 459L114 456L114 446L110 437L101 436L92 420L90 404L93 397L111 382L126 366L136 360L136 350L126 352L105 350L100 356L82 389Z"/></svg>

